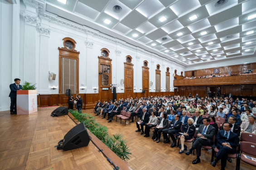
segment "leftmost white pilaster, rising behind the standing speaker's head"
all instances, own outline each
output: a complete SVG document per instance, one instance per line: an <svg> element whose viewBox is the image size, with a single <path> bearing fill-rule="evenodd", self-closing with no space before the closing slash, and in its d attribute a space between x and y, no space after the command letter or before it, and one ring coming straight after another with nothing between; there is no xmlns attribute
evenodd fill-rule
<svg viewBox="0 0 256 170"><path fill-rule="evenodd" d="M11 82L20 78L20 0L12 4Z"/></svg>

